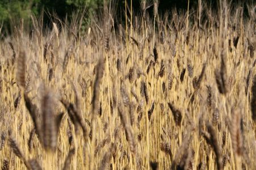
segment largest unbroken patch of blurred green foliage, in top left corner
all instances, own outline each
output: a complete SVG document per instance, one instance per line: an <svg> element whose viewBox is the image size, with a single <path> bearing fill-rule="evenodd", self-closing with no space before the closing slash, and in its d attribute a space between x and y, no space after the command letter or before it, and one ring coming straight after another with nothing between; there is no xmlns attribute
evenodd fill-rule
<svg viewBox="0 0 256 170"><path fill-rule="evenodd" d="M23 18L24 22L30 22L31 14L40 14L42 10L54 12L60 19L65 19L66 16L72 19L74 11L82 11L86 8L86 14L91 16L93 11L103 6L103 2L103 0L2 0L0 1L0 23L10 28L20 18ZM48 16L44 15L45 24L51 22ZM86 19L83 25L86 23L90 23L90 19Z"/></svg>

